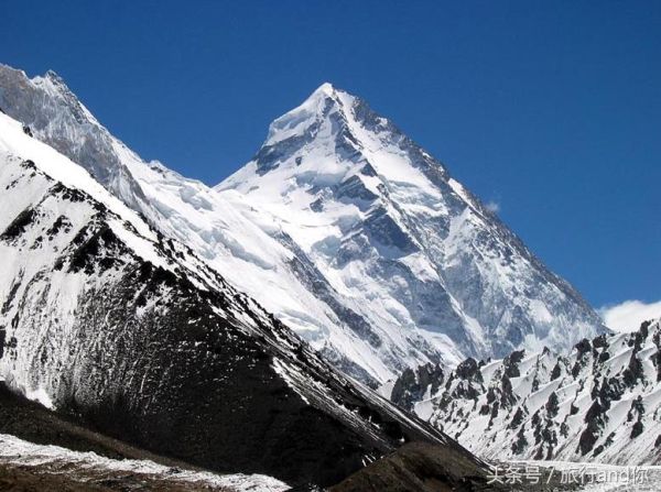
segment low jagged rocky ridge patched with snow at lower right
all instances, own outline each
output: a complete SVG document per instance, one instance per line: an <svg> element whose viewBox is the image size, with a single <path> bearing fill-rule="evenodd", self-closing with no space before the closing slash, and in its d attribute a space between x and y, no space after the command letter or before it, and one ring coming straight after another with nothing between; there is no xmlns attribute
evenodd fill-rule
<svg viewBox="0 0 661 492"><path fill-rule="evenodd" d="M567 354L408 370L392 400L487 459L661 464L661 321Z"/></svg>

